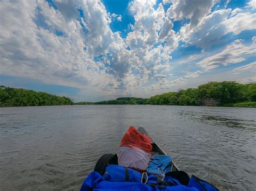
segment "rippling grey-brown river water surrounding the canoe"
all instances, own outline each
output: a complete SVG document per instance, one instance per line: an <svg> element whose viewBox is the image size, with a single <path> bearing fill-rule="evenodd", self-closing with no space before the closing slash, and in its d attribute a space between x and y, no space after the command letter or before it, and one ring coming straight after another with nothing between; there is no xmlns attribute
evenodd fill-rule
<svg viewBox="0 0 256 191"><path fill-rule="evenodd" d="M181 170L220 190L256 187L256 109L161 105L0 108L0 190L78 190L143 126Z"/></svg>

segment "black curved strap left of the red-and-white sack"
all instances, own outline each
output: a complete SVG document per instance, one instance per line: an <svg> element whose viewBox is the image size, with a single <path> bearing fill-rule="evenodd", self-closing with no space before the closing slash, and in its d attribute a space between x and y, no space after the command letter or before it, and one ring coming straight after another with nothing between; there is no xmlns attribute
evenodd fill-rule
<svg viewBox="0 0 256 191"><path fill-rule="evenodd" d="M94 171L103 176L105 168L108 164L117 165L117 154L103 154L97 161Z"/></svg>

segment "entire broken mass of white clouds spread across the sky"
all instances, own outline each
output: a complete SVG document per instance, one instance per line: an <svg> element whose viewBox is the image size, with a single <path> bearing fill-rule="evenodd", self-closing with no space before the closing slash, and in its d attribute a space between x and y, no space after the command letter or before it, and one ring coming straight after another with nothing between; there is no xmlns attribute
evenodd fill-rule
<svg viewBox="0 0 256 191"><path fill-rule="evenodd" d="M110 23L124 18L111 15L100 0L54 0L54 7L43 0L1 2L0 73L93 89L104 95L135 94L137 90L148 95L255 54L254 43L236 40L223 52L207 58L210 53L198 53L177 63L171 56L180 41L184 46L207 48L227 33L255 30L255 13L251 11L254 0L246 5L249 11L210 12L214 4L211 0L156 3L129 3L127 10L134 24L129 24L131 31L122 38L120 32L111 30ZM163 4L167 3L172 4L165 11ZM184 18L190 22L174 32L173 21ZM203 70L187 72L183 77L173 75L176 65L198 60L197 68Z"/></svg>

